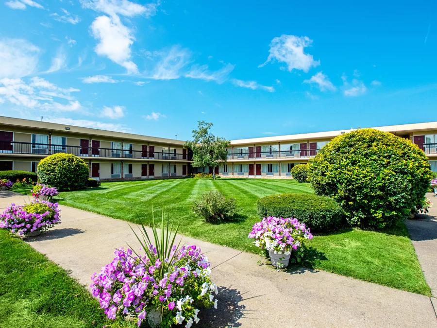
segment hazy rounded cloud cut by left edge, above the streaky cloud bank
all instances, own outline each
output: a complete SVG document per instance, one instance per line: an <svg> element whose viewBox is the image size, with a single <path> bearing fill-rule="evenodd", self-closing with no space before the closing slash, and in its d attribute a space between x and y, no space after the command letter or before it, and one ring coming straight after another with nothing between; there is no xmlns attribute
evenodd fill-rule
<svg viewBox="0 0 437 328"><path fill-rule="evenodd" d="M39 48L22 39L0 39L0 78L17 78L36 69Z"/></svg>

